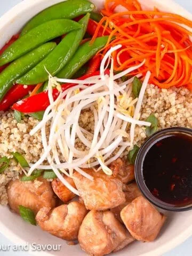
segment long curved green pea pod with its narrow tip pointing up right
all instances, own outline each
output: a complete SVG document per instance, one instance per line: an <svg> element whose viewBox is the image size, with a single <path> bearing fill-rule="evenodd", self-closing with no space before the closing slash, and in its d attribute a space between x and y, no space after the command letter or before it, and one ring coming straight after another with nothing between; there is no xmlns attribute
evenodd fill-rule
<svg viewBox="0 0 192 256"><path fill-rule="evenodd" d="M16 82L19 84L38 84L45 82L49 78L47 71L49 71L52 76L57 74L76 52L85 34L89 18L90 14L87 13L78 21L78 23L82 25L81 29L71 31L67 34L45 59Z"/></svg>

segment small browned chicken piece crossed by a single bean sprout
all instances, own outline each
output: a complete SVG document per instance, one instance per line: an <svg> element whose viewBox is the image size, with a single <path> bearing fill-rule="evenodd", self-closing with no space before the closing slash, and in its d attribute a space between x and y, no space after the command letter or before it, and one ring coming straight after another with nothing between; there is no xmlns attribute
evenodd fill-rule
<svg viewBox="0 0 192 256"><path fill-rule="evenodd" d="M66 175L63 175L63 177L66 179L66 181L71 186L76 188L75 183L72 178L67 177ZM52 185L54 193L61 199L61 201L65 202L65 203L69 202L71 199L73 199L76 196L65 185L63 185L63 183L58 178L54 179L51 182L51 185Z"/></svg>

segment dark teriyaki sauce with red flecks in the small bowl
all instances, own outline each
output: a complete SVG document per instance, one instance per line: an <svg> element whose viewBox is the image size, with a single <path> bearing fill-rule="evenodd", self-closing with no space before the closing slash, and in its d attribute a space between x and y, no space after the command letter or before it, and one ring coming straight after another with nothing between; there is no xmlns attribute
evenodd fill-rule
<svg viewBox="0 0 192 256"><path fill-rule="evenodd" d="M192 203L192 138L172 134L149 149L142 164L143 179L159 200L175 206Z"/></svg>

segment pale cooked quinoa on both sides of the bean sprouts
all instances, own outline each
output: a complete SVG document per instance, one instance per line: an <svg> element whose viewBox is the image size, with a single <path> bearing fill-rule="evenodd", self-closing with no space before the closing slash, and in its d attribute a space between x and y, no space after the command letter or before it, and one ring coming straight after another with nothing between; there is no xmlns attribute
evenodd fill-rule
<svg viewBox="0 0 192 256"><path fill-rule="evenodd" d="M172 126L192 128L192 92L186 88L160 90L154 85L148 85L142 103L141 117L145 120L155 114L158 118L158 129ZM11 157L10 152L18 151L25 155L28 162L36 162L43 153L41 133L30 136L29 132L38 121L33 117L25 117L21 123L13 117L13 112L0 112L0 156ZM84 111L79 119L79 125L89 132L94 129L94 116L91 111ZM48 130L47 130L48 131ZM89 135L87 135L89 137ZM91 140L91 137L89 138ZM135 128L134 143L138 146L146 139L145 127ZM86 147L76 140L79 150ZM127 154L125 150L124 155ZM13 160L9 169L0 174L0 203L7 204L6 185L12 179L18 179L21 169Z"/></svg>

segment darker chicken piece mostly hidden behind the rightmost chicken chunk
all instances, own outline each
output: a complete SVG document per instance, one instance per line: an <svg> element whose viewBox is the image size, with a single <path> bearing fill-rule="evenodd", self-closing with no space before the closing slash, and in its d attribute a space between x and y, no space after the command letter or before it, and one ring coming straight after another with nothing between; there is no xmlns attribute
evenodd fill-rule
<svg viewBox="0 0 192 256"><path fill-rule="evenodd" d="M115 217L123 223L121 217L120 217L120 213L121 213L121 210L127 205L127 204L130 204L135 198L137 198L138 196L141 196L141 191L139 190L138 186L137 186L137 183L136 182L133 182L133 183L130 183L130 184L127 184L127 185L124 185L123 186L123 191L125 193L125 199L126 199L126 202L121 204L121 205L118 205L117 207L115 208L112 208L111 209L111 212L113 212L115 214Z"/></svg>

